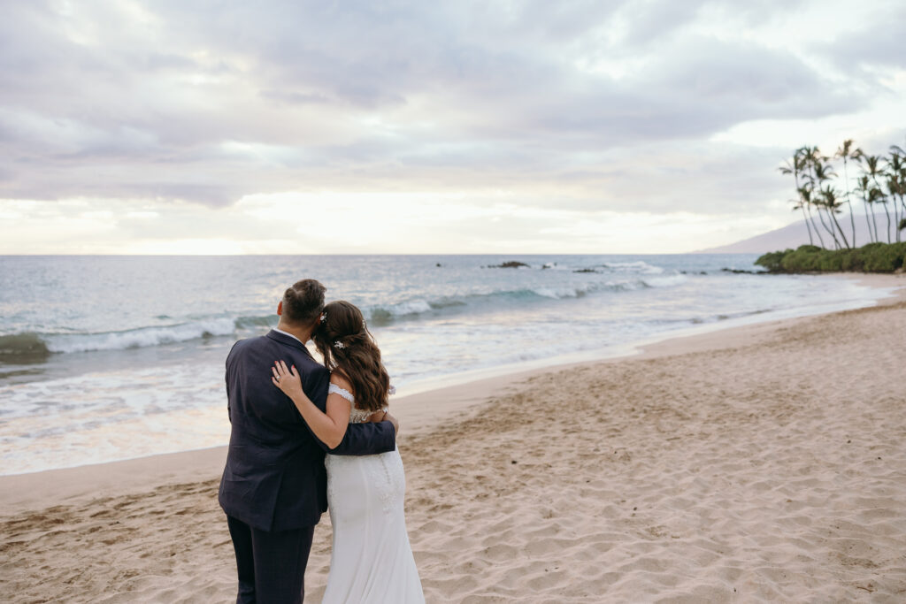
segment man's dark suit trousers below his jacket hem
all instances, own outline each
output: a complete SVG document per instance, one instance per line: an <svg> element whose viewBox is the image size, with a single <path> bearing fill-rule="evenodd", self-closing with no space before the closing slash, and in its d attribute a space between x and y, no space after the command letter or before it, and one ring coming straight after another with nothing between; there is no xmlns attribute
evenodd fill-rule
<svg viewBox="0 0 906 604"><path fill-rule="evenodd" d="M236 551L236 604L301 604L314 527L267 532L226 516Z"/></svg>

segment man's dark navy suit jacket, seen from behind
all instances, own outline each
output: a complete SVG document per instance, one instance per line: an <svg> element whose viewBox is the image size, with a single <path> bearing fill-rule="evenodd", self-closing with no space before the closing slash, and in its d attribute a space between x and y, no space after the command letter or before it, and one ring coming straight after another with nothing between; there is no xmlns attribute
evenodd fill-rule
<svg viewBox="0 0 906 604"><path fill-rule="evenodd" d="M313 526L327 509L324 452L374 455L392 451L390 422L350 424L328 449L293 401L271 381L275 360L295 365L302 388L322 411L330 372L292 336L270 331L239 340L226 357L227 412L232 425L217 501L227 515L262 531Z"/></svg>

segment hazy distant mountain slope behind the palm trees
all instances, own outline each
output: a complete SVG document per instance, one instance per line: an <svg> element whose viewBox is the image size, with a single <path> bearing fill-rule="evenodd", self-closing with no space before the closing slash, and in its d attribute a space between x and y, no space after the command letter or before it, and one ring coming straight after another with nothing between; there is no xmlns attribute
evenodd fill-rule
<svg viewBox="0 0 906 604"><path fill-rule="evenodd" d="M868 235L868 225L865 223L865 215L856 215L855 217L855 243L864 245L871 241ZM837 216L840 225L843 227L843 234L852 244L852 226L848 215ZM827 247L834 247L834 239L824 230L824 226L815 217L818 228L821 229L821 236L824 237L824 244ZM878 235L881 235L882 241L887 241L885 232L887 228L887 218L878 216ZM820 245L817 235L814 235L814 244ZM839 236L839 235L838 235ZM718 247L709 247L705 250L698 250L692 254L766 254L767 252L776 252L786 250L786 248L796 248L808 243L808 231L805 229L805 220L800 220L792 225L786 225L782 228L768 231L761 235L749 237L735 244L720 245Z"/></svg>

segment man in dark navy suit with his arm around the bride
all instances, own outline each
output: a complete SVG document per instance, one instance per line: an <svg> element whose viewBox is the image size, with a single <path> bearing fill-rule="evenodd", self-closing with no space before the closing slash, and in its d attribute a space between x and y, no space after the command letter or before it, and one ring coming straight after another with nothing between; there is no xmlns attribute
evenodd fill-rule
<svg viewBox="0 0 906 604"><path fill-rule="evenodd" d="M324 286L294 283L277 304L280 321L264 336L239 340L226 357L226 411L232 430L217 500L239 574L237 603L294 604L304 599L304 572L314 525L327 509L327 447L293 401L271 382L276 360L295 366L305 394L322 411L330 372L305 349L320 322ZM373 455L396 446L396 424L350 424L334 455Z"/></svg>

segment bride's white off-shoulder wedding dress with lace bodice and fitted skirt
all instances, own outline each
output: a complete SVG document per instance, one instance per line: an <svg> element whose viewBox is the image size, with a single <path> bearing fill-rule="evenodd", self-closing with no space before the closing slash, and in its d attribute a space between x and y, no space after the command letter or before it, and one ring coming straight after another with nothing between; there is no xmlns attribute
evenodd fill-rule
<svg viewBox="0 0 906 604"><path fill-rule="evenodd" d="M371 417L371 411L355 408L349 391L331 384L329 392L352 403L351 424ZM424 602L419 570L406 532L406 475L399 451L327 455L324 465L333 552L322 602Z"/></svg>

